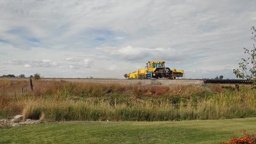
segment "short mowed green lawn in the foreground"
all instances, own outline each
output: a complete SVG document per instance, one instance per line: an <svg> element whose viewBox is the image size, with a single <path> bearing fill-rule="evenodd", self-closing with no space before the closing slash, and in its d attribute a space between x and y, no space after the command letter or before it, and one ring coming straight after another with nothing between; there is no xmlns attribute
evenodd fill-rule
<svg viewBox="0 0 256 144"><path fill-rule="evenodd" d="M58 122L0 128L0 143L218 143L256 133L256 118L175 122Z"/></svg>

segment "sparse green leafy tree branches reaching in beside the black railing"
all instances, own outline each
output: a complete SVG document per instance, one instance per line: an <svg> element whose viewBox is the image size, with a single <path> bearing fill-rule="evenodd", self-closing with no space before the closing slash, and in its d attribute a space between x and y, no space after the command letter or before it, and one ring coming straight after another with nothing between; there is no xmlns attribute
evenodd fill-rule
<svg viewBox="0 0 256 144"><path fill-rule="evenodd" d="M252 40L256 42L256 28L252 27ZM253 81L252 85L256 85L256 46L253 44L252 50L244 47L244 53L247 57L242 59L242 62L238 63L239 69L233 69L233 73L238 78L246 78Z"/></svg>

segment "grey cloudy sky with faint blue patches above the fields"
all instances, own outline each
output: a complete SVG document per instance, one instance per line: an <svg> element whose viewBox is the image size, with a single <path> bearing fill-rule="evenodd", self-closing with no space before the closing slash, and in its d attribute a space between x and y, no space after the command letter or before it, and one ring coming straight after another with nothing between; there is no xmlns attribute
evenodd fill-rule
<svg viewBox="0 0 256 144"><path fill-rule="evenodd" d="M187 78L235 78L256 1L0 0L0 75L123 78L164 60Z"/></svg>

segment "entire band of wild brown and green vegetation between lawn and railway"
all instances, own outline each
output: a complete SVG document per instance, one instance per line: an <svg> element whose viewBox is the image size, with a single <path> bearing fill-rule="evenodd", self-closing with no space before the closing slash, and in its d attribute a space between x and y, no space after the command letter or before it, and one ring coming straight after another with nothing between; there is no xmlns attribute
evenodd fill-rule
<svg viewBox="0 0 256 144"><path fill-rule="evenodd" d="M6 82L7 81L7 82ZM132 85L0 79L0 117L44 121L179 121L256 116L256 90L221 85ZM21 87L23 92L21 94Z"/></svg>

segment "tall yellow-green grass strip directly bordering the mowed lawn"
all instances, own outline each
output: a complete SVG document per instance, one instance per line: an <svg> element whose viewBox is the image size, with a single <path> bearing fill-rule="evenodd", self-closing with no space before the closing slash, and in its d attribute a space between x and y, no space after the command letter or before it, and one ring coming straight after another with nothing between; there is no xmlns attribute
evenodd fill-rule
<svg viewBox="0 0 256 144"><path fill-rule="evenodd" d="M38 119L42 114L47 121L171 121L175 119L224 119L256 116L255 92L217 94L216 97L180 102L133 101L129 105L97 99L61 100L28 99L23 101L26 118Z"/></svg>

